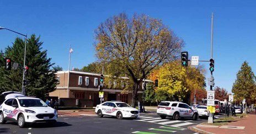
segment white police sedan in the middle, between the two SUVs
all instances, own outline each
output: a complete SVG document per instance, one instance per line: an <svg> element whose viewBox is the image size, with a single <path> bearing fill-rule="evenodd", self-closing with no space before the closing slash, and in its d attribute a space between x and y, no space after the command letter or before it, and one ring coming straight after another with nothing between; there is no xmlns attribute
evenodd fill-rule
<svg viewBox="0 0 256 134"><path fill-rule="evenodd" d="M118 119L122 119L123 117L140 117L137 109L120 101L106 101L105 103L99 104L96 106L95 112L98 117L103 117L104 115L115 116Z"/></svg>

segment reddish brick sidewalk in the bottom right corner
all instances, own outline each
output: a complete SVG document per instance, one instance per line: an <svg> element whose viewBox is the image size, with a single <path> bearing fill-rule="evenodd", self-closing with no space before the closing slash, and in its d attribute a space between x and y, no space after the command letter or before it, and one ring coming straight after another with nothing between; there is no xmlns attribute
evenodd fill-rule
<svg viewBox="0 0 256 134"><path fill-rule="evenodd" d="M193 130L200 133L255 133L256 132L256 115L249 114L243 119L234 120L227 125L196 125ZM205 131L205 132L204 132Z"/></svg>

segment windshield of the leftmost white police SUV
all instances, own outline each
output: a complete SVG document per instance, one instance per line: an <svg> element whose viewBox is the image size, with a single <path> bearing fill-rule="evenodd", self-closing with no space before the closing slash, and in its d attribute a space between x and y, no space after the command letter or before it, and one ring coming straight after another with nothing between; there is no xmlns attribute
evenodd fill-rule
<svg viewBox="0 0 256 134"><path fill-rule="evenodd" d="M44 101L40 99L19 99L20 106L23 107L31 107L31 106L44 106L47 107L47 105L44 103Z"/></svg>

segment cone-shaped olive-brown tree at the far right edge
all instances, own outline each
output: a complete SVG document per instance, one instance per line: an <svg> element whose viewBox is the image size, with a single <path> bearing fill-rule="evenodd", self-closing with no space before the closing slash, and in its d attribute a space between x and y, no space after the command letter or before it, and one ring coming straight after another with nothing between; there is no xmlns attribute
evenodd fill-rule
<svg viewBox="0 0 256 134"><path fill-rule="evenodd" d="M232 92L236 100L256 99L255 84L256 77L252 71L252 67L244 61L241 69L237 73L237 79L233 84Z"/></svg>

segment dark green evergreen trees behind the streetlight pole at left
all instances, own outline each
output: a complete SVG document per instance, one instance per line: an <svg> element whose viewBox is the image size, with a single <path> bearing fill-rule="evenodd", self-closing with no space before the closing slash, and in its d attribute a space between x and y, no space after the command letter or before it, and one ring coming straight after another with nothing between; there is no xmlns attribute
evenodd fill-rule
<svg viewBox="0 0 256 134"><path fill-rule="evenodd" d="M39 37L31 35L26 46L26 66L29 67L26 79L29 81L26 85L26 94L44 98L49 92L56 88L57 79L54 70L50 69L53 63L51 58L47 58L47 50L42 50L42 44ZM12 59L12 62L23 66L25 41L16 38L12 46L8 46L4 56ZM1 57L1 65L4 65ZM23 69L7 71L4 67L0 69L0 92L4 91L22 91Z"/></svg>

